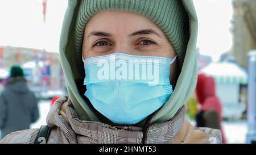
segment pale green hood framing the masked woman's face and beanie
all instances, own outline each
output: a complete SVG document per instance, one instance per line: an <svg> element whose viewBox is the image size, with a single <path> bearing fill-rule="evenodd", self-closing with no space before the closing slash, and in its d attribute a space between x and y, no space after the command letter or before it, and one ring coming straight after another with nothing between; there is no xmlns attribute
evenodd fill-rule
<svg viewBox="0 0 256 155"><path fill-rule="evenodd" d="M183 66L177 79L174 93L170 99L152 115L149 124L166 122L172 119L176 112L183 106L188 97L193 93L197 81L197 16L192 0L183 0L185 10L189 16L190 36L187 45ZM75 55L75 26L77 14L81 1L69 0L65 12L63 27L60 37L60 60L64 71L69 98L81 120L101 121L106 123L106 119L92 107L89 100L84 97L85 86L84 68L81 66L82 59ZM146 120L137 124L142 126Z"/></svg>

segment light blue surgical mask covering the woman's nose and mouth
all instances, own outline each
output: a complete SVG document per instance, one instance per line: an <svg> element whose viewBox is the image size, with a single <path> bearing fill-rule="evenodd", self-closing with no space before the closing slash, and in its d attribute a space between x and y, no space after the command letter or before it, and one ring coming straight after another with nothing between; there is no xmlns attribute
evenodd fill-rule
<svg viewBox="0 0 256 155"><path fill-rule="evenodd" d="M170 65L175 58L123 53L86 58L85 96L112 122L139 123L170 98Z"/></svg>

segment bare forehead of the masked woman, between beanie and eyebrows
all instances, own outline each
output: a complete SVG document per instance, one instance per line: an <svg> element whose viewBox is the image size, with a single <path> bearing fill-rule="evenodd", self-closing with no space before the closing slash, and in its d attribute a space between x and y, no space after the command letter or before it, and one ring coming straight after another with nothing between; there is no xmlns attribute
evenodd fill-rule
<svg viewBox="0 0 256 155"><path fill-rule="evenodd" d="M130 33L143 29L162 33L162 30L146 16L129 11L106 10L98 12L89 20L85 33L86 35L93 31Z"/></svg>

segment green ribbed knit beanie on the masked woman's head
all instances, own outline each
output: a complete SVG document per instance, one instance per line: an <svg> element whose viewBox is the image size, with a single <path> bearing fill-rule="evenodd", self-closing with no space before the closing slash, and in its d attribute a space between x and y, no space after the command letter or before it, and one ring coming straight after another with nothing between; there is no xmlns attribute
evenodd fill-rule
<svg viewBox="0 0 256 155"><path fill-rule="evenodd" d="M82 40L86 23L97 12L122 10L137 12L151 19L166 34L174 47L180 68L187 49L188 14L180 0L82 0L75 27L76 57L81 59Z"/></svg>

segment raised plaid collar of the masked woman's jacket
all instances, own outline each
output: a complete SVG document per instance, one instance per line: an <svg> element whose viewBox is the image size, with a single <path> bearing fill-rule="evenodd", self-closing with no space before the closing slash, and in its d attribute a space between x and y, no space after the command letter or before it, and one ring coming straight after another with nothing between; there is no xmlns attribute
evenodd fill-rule
<svg viewBox="0 0 256 155"><path fill-rule="evenodd" d="M170 143L184 121L185 108L168 122L152 124L147 128L146 143ZM67 97L58 99L49 111L47 124L57 126L74 143L142 143L141 127L116 127L109 124L80 120Z"/></svg>

